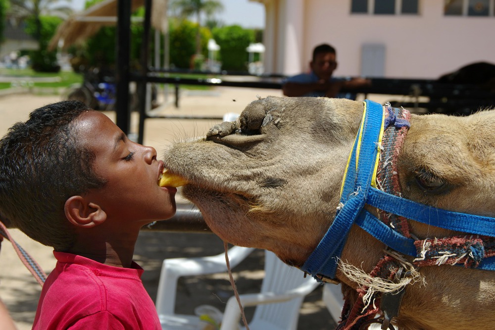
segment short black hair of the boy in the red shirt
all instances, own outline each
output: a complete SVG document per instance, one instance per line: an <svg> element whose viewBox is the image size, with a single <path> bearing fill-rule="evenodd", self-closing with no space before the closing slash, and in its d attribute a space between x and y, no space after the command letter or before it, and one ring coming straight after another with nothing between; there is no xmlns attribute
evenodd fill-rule
<svg viewBox="0 0 495 330"><path fill-rule="evenodd" d="M78 146L74 121L88 110L78 101L36 109L0 140L0 214L56 251L75 239L65 201L105 184L93 172L95 155Z"/></svg>

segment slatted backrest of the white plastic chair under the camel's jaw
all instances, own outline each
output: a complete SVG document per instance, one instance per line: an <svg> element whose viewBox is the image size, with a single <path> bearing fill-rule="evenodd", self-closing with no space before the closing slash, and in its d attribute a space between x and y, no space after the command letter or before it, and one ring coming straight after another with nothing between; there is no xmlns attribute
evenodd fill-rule
<svg viewBox="0 0 495 330"><path fill-rule="evenodd" d="M252 330L296 330L299 309L304 296L318 285L318 282L311 276L304 278L301 270L283 263L274 253L265 250L265 277L261 285L261 293L297 292L300 294L286 302L256 306L249 328Z"/></svg>

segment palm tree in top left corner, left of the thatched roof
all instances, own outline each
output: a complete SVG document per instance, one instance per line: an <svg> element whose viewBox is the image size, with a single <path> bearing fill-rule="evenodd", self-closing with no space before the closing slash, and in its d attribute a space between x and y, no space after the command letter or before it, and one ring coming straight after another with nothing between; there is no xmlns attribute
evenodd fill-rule
<svg viewBox="0 0 495 330"><path fill-rule="evenodd" d="M35 38L41 36L40 16L68 17L72 8L68 5L59 5L58 2L70 2L71 0L10 0L10 15L17 18L32 17L35 20Z"/></svg>

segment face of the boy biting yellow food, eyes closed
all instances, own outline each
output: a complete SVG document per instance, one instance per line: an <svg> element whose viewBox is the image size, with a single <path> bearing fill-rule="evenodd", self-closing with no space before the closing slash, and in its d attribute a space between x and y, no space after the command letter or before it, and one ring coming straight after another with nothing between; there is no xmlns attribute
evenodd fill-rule
<svg viewBox="0 0 495 330"><path fill-rule="evenodd" d="M78 143L95 153L94 171L107 181L85 197L98 204L107 219L146 224L175 214L177 190L158 186L163 163L156 160L154 148L132 142L98 111L81 114L76 129Z"/></svg>

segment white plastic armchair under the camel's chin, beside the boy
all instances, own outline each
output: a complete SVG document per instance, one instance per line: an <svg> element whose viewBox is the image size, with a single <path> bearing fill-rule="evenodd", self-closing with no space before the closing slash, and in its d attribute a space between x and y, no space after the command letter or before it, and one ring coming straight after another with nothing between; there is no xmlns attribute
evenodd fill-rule
<svg viewBox="0 0 495 330"><path fill-rule="evenodd" d="M229 249L229 261L234 268L253 249L234 246ZM163 330L201 330L205 323L198 316L174 314L177 279L186 275L203 275L226 272L225 255L204 258L175 258L163 261L156 310ZM261 292L240 294L244 307L256 306L251 330L296 330L299 309L304 296L318 283L311 277L304 278L297 268L284 264L272 252L265 251L265 277ZM241 311L234 296L229 298L221 322L221 330L244 329L240 326Z"/></svg>

